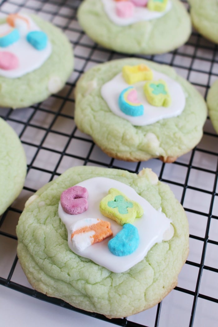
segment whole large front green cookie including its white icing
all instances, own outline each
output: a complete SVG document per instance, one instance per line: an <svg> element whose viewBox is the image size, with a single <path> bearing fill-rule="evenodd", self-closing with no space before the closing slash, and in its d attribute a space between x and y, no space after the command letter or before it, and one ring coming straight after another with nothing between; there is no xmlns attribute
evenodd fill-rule
<svg viewBox="0 0 218 327"><path fill-rule="evenodd" d="M64 213L59 204L61 193L75 184L87 188L89 208L73 219L83 226L85 217L98 215L100 220L110 220L113 232L80 250L71 241L72 215ZM135 241L132 246L124 245L122 256L110 252L108 243L123 227L99 211L99 202L111 186L122 188L144 209L133 223L134 231L131 226L124 228ZM137 175L120 169L73 167L36 195L25 207L16 230L19 262L36 290L77 308L118 318L154 306L176 286L189 251L188 221L169 186L159 182L151 169ZM93 221L88 219L86 224L93 225ZM115 250L121 244L118 240Z"/></svg>

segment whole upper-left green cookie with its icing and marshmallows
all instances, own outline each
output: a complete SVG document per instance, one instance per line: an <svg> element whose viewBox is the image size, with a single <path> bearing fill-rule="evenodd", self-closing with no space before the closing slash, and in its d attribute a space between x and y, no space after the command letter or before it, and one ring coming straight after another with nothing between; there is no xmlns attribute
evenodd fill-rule
<svg viewBox="0 0 218 327"><path fill-rule="evenodd" d="M36 15L0 20L0 106L22 108L63 88L73 69L73 50L56 26Z"/></svg>

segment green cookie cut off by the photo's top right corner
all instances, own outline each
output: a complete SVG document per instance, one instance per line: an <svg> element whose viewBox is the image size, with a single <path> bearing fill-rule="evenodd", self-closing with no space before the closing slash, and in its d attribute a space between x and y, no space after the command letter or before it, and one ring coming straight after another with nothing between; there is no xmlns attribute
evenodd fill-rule
<svg viewBox="0 0 218 327"><path fill-rule="evenodd" d="M217 0L188 0L194 28L206 39L218 43Z"/></svg>

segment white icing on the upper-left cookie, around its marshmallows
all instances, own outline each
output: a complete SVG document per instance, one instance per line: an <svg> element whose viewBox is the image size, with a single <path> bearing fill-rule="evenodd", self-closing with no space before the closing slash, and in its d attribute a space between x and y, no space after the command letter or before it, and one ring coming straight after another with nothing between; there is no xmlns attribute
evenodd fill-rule
<svg viewBox="0 0 218 327"><path fill-rule="evenodd" d="M8 51L14 54L19 59L19 66L16 69L12 70L4 70L0 69L0 76L8 77L8 78L17 78L21 77L27 73L34 71L42 66L42 64L47 60L52 52L52 45L48 41L48 44L43 50L36 50L31 44L26 41L26 34L31 31L41 31L41 29L36 25L36 23L27 15L23 15L23 17L27 18L29 21L29 29L24 32L22 28L21 38L7 46L0 47L0 52ZM5 29L7 23L0 25ZM8 28L10 26L8 25Z"/></svg>

